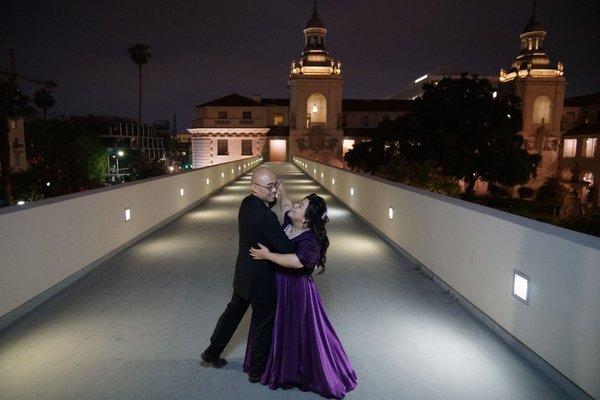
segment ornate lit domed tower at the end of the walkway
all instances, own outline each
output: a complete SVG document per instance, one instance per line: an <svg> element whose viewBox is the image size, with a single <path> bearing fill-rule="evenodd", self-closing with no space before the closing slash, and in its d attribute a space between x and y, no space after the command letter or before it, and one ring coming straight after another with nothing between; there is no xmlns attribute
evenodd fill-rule
<svg viewBox="0 0 600 400"><path fill-rule="evenodd" d="M327 29L319 18L317 2L306 28L305 47L292 62L290 91L290 150L312 160L342 166L344 133L341 62L325 49Z"/></svg>

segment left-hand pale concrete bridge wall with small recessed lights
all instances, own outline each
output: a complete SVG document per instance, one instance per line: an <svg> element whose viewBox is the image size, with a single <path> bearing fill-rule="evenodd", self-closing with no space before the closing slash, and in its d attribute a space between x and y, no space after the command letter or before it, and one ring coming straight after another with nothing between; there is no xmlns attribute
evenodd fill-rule
<svg viewBox="0 0 600 400"><path fill-rule="evenodd" d="M262 156L0 209L0 329Z"/></svg>

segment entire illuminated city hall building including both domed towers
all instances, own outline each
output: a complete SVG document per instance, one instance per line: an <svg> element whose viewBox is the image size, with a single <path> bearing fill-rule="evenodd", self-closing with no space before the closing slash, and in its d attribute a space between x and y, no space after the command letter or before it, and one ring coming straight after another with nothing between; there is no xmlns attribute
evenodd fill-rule
<svg viewBox="0 0 600 400"><path fill-rule="evenodd" d="M289 98L230 94L196 107L188 129L194 168L258 154L267 161L289 161L295 154L343 167L345 152L370 140L380 122L412 112L423 83L460 76L457 68L442 67L386 99L344 99L342 63L326 50L327 29L316 5L303 33L304 50L290 65ZM555 175L567 180L575 163L591 186L600 175L600 94L565 98L565 66L551 64L546 34L534 3L510 68L482 77L498 96L521 98L525 147L542 156L527 186L537 188Z"/></svg>

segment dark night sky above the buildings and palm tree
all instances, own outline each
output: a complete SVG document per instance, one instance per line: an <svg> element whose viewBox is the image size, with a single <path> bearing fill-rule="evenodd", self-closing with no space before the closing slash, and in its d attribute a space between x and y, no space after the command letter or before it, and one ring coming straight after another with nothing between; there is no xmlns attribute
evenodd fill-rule
<svg viewBox="0 0 600 400"><path fill-rule="evenodd" d="M8 5L7 5L8 4ZM342 60L345 98L382 98L443 64L508 69L532 1L321 0L326 45ZM312 1L2 0L0 48L22 75L52 79L54 114L137 116L138 72L127 49L148 43L143 119L190 126L194 107L229 93L287 97ZM567 95L600 92L600 1L542 0L552 66ZM0 67L8 54L0 54ZM37 88L23 85L26 93Z"/></svg>

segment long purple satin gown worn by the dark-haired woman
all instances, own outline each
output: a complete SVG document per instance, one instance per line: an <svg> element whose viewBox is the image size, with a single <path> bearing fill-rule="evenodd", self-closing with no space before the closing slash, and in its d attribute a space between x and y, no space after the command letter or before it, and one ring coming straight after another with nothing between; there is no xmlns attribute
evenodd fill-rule
<svg viewBox="0 0 600 400"><path fill-rule="evenodd" d="M284 228L290 224L286 215ZM357 385L356 373L338 339L310 274L319 262L320 244L312 231L291 239L304 268L276 272L277 308L271 350L261 383L270 389L297 387L341 399ZM248 337L244 371L248 372Z"/></svg>

